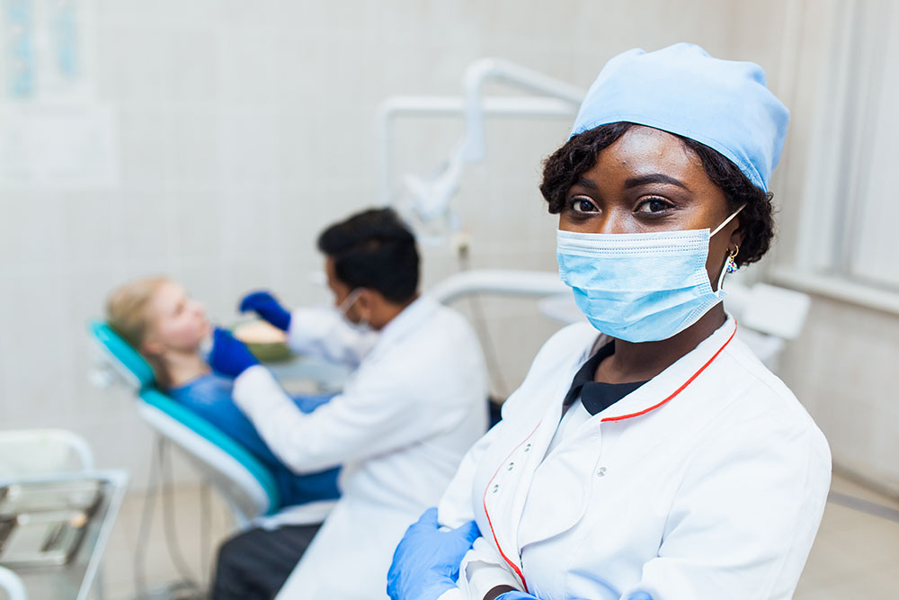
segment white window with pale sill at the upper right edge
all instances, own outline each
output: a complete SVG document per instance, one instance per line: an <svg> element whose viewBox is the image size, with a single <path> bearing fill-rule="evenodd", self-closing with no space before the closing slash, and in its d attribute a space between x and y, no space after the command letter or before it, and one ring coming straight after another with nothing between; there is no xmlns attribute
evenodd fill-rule
<svg viewBox="0 0 899 600"><path fill-rule="evenodd" d="M835 8L814 101L798 266L781 279L899 309L899 2Z"/></svg>

